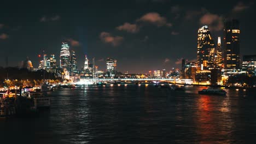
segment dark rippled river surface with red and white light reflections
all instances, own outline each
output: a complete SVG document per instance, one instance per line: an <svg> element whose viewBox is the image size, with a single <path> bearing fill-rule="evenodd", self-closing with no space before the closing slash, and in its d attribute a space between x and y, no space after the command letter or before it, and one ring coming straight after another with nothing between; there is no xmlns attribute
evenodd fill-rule
<svg viewBox="0 0 256 144"><path fill-rule="evenodd" d="M0 119L0 143L256 143L256 93L63 88L36 118Z"/></svg>

